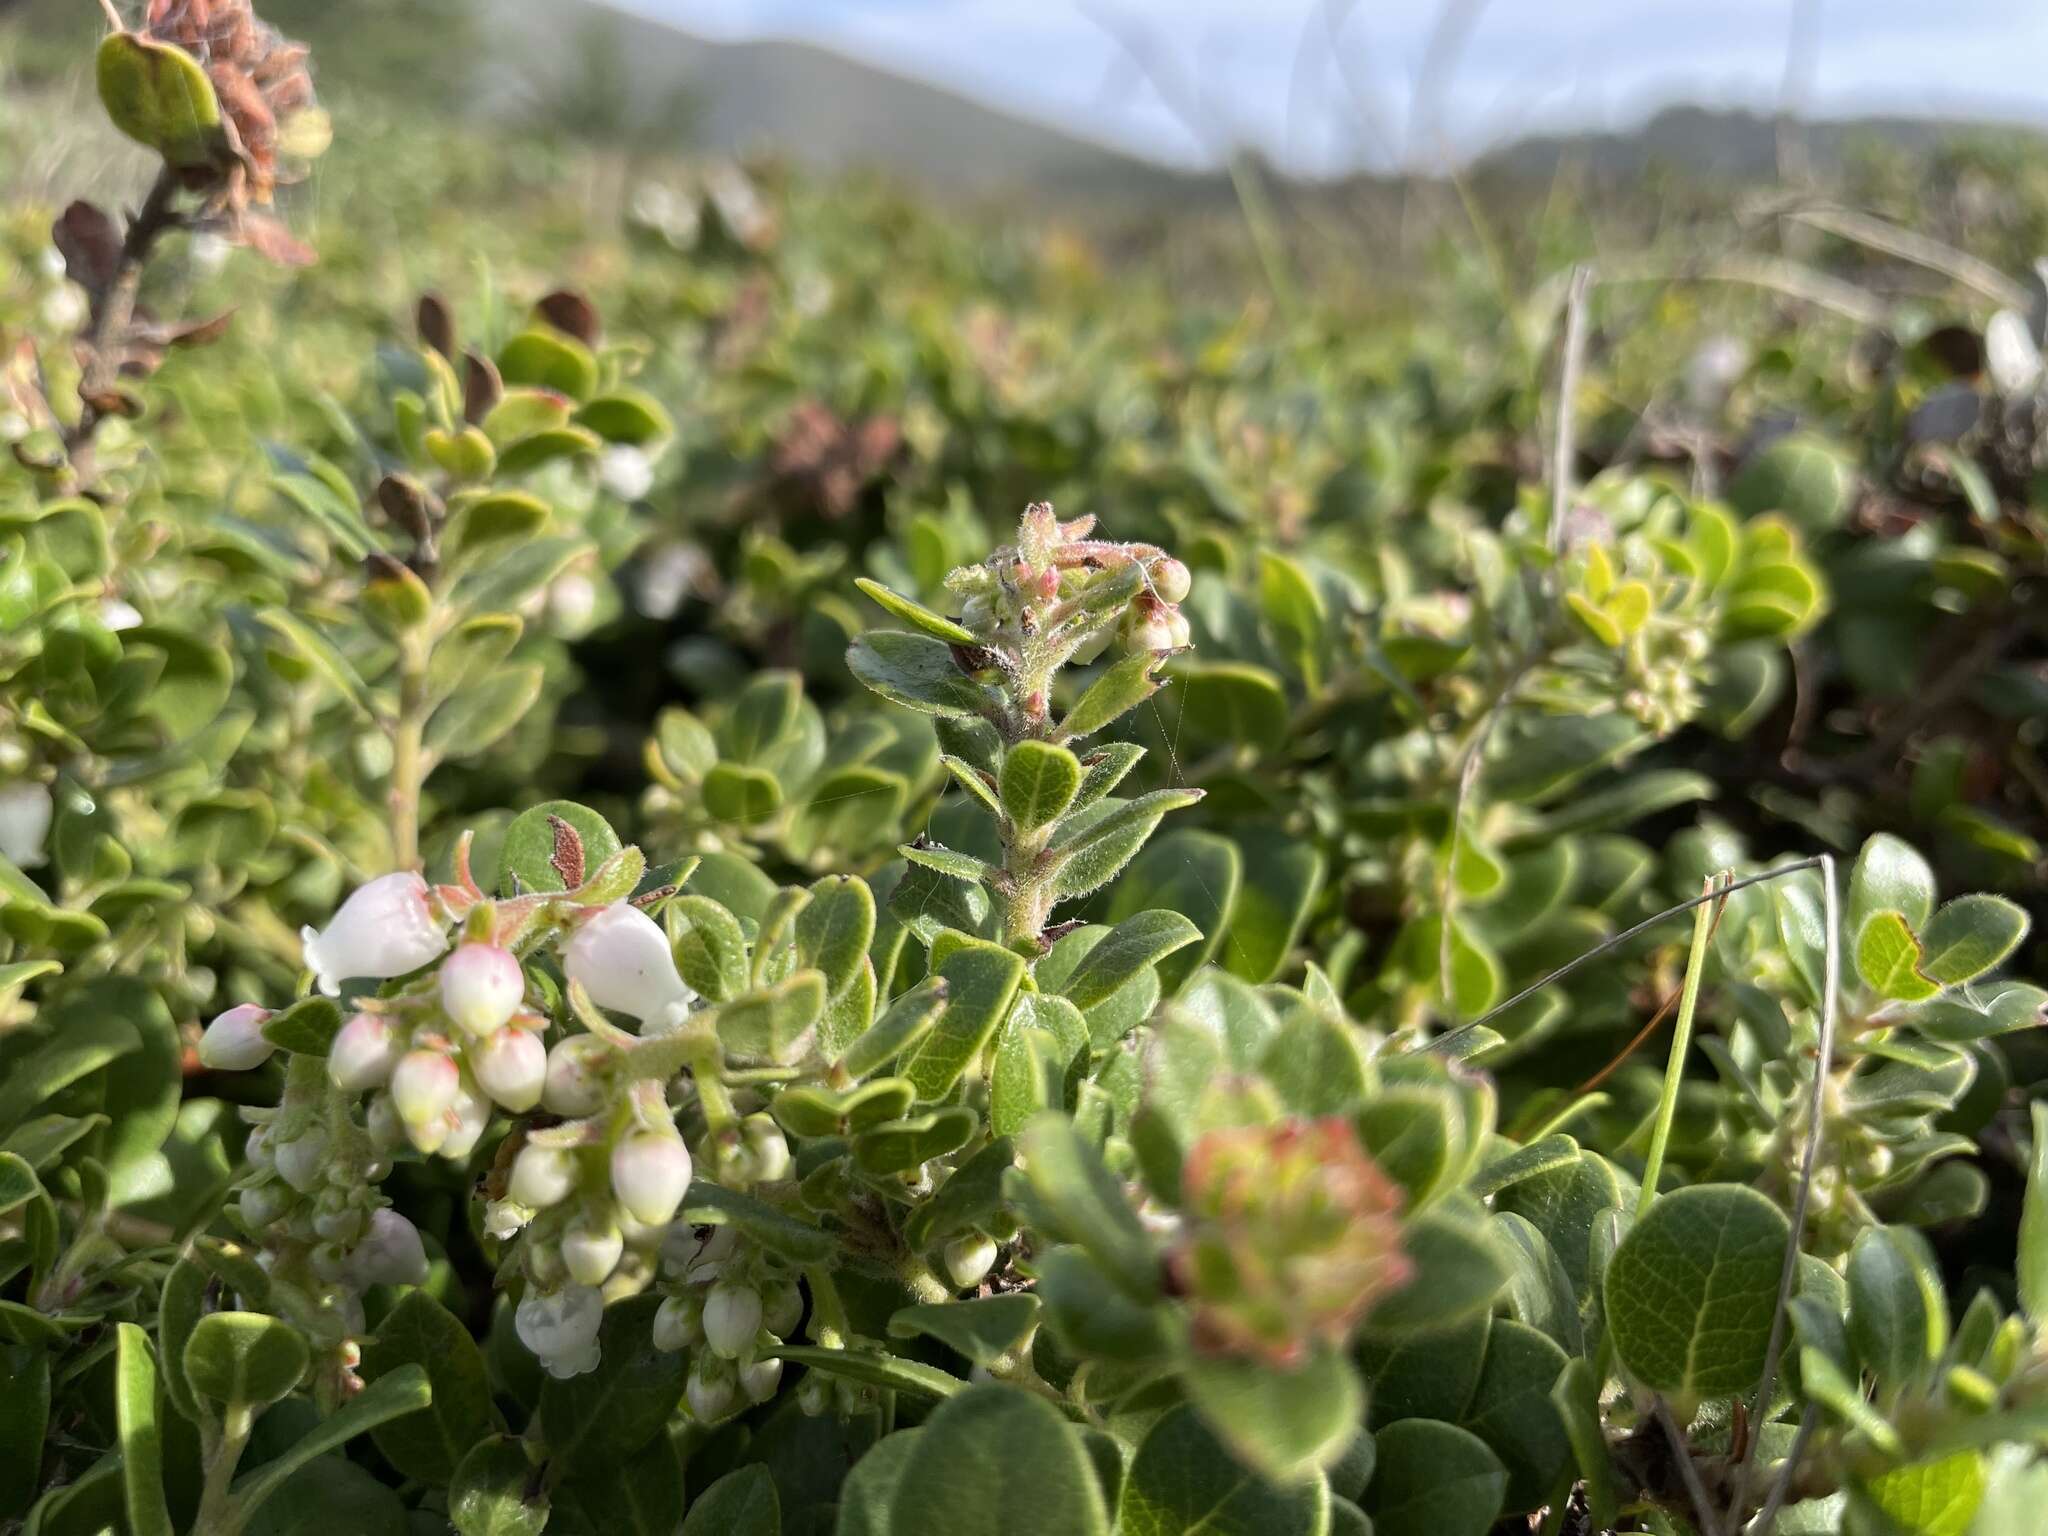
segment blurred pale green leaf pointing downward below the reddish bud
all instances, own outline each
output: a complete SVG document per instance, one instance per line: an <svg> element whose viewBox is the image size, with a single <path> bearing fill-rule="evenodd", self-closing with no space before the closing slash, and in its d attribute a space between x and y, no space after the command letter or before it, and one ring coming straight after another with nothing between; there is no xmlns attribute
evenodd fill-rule
<svg viewBox="0 0 2048 1536"><path fill-rule="evenodd" d="M1288 1370L1198 1354L1188 1360L1182 1380L1188 1399L1233 1454L1280 1483L1335 1460L1366 1411L1358 1370L1329 1348L1315 1350Z"/></svg>

